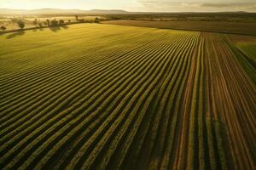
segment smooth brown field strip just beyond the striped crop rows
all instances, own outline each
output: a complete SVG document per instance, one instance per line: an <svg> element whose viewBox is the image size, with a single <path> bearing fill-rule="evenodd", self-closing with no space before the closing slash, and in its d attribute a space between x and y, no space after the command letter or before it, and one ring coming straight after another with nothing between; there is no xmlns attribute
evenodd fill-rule
<svg viewBox="0 0 256 170"><path fill-rule="evenodd" d="M256 36L256 22L198 21L198 20L109 20L104 24L144 26L153 28L213 31Z"/></svg>

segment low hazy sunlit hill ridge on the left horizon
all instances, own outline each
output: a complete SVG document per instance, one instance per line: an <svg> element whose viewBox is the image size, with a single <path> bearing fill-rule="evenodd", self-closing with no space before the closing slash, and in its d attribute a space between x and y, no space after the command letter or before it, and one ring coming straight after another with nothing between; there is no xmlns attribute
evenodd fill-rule
<svg viewBox="0 0 256 170"><path fill-rule="evenodd" d="M9 9L0 8L0 15L40 15L40 14L127 14L125 10L105 10L105 9L60 9L60 8L41 8L41 9Z"/></svg>

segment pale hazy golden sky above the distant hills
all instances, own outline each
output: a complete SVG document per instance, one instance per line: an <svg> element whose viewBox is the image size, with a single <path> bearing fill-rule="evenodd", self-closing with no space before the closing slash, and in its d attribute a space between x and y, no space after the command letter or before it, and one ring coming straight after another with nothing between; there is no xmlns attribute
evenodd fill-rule
<svg viewBox="0 0 256 170"><path fill-rule="evenodd" d="M251 11L256 0L0 0L0 8L125 9L128 11Z"/></svg>

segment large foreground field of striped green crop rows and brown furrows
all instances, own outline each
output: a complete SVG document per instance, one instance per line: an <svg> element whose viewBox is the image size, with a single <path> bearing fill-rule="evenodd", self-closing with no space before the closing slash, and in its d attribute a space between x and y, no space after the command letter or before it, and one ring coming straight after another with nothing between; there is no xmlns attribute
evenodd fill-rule
<svg viewBox="0 0 256 170"><path fill-rule="evenodd" d="M237 39L103 24L1 35L1 169L253 169L256 67Z"/></svg>

